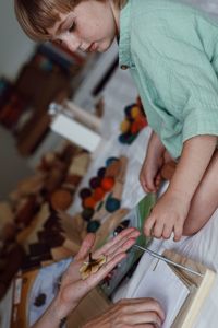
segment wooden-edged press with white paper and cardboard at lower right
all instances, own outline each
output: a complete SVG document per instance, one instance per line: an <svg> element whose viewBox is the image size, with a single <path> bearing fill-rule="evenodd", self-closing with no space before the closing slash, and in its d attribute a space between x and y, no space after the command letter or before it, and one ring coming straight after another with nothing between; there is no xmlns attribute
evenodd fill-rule
<svg viewBox="0 0 218 328"><path fill-rule="evenodd" d="M162 328L191 328L213 286L216 273L174 251L166 250L164 256L201 276L154 258L132 297L154 297L159 301L166 312Z"/></svg>

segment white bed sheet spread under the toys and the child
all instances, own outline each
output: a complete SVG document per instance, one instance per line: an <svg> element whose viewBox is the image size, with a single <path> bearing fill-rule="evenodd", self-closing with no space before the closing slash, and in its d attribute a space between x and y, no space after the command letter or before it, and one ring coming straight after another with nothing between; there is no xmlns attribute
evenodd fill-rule
<svg viewBox="0 0 218 328"><path fill-rule="evenodd" d="M138 183L138 174L149 136L150 129L145 128L131 145L122 145L119 143L118 134L111 137L107 142L101 144L98 153L95 154L96 157L94 159L81 187L88 186L89 178L95 176L100 166L105 165L105 161L108 157L124 154L129 157L129 166L121 206L133 208L144 196L144 191ZM81 211L81 200L76 197L74 206L70 212L72 214L73 212ZM207 265L209 268L218 271L218 210L214 213L204 229L194 236L183 237L179 243L175 243L172 239L154 239L150 248L158 253L162 253L164 249L177 250L178 253ZM131 281L118 290L113 297L113 302L123 297L131 297L133 290L140 283L142 274L145 272L148 265L149 256L144 255ZM218 279L216 278L215 285L202 308L194 328L217 328L217 313Z"/></svg>

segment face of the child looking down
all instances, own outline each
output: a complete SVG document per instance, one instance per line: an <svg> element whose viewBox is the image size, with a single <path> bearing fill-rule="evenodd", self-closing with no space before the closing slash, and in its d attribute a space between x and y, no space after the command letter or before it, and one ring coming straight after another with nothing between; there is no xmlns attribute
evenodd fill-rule
<svg viewBox="0 0 218 328"><path fill-rule="evenodd" d="M111 1L86 0L73 11L60 13L60 20L48 30L51 40L71 51L106 51L118 33L114 8Z"/></svg>

